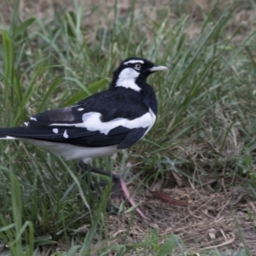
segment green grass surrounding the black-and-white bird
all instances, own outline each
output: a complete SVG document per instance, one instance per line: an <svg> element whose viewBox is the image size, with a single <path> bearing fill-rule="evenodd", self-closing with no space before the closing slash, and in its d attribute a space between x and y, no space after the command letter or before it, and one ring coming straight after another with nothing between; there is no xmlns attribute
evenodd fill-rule
<svg viewBox="0 0 256 256"><path fill-rule="evenodd" d="M118 2L89 9L85 1L73 1L73 10L56 7L50 18L32 13L22 20L19 1L1 3L10 10L0 13L1 126L22 125L34 113L104 90L121 60L146 57L170 67L149 79L159 100L157 122L142 142L114 159L95 160L94 166L115 169L143 189L142 196L160 180L178 181L176 174L183 187L213 194L239 187L253 202L256 6L253 1L225 3L197 7L198 20L183 1L166 1L157 9L134 1L123 12ZM198 34L191 34L195 28ZM138 221L134 211L127 220L113 218L126 222L125 230L113 236L105 210L111 188L96 201L84 175L75 161L1 141L1 255L164 256L194 250L195 243L156 228L132 238ZM247 206L247 214L255 229L253 208ZM243 248L207 249L202 255L229 250L250 255L245 230L238 225L237 232Z"/></svg>

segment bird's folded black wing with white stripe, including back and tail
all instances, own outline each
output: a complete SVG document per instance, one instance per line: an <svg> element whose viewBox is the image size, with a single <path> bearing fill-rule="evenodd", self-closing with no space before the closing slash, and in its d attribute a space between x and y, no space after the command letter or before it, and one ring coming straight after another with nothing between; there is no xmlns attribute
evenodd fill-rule
<svg viewBox="0 0 256 256"><path fill-rule="evenodd" d="M82 147L129 148L154 124L138 94L104 91L69 107L38 113L24 127L1 128L0 137L17 137Z"/></svg>

